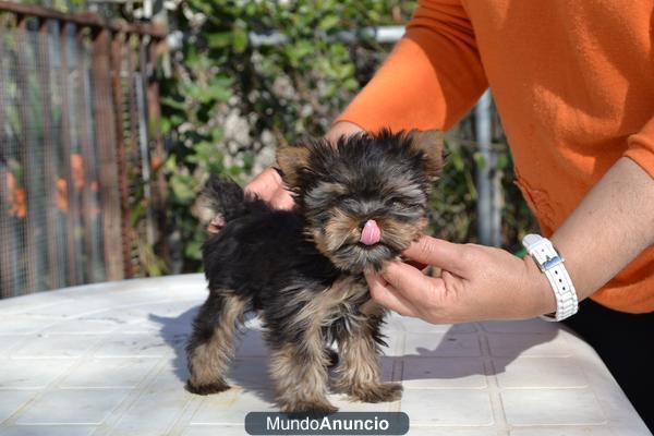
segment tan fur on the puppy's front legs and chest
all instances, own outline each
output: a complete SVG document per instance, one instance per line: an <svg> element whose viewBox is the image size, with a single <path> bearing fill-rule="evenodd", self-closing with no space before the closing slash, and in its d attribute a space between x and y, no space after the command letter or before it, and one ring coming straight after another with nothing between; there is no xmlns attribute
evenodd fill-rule
<svg viewBox="0 0 654 436"><path fill-rule="evenodd" d="M367 292L362 281L348 277L317 295L310 292L298 295L306 301L306 305L294 323L304 329L305 337L300 343L275 352L270 371L282 411L336 411L326 399L328 361L320 330L339 316L353 313L351 301ZM382 317L385 310L368 300L360 312L362 316ZM339 352L337 386L340 389L368 402L392 401L400 397L401 387L380 383L377 348L365 322L358 324L352 336L339 343Z"/></svg>

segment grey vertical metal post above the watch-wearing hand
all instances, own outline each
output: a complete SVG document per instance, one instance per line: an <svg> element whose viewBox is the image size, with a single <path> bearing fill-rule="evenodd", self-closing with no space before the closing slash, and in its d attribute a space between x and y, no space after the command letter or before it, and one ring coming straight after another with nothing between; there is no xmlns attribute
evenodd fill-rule
<svg viewBox="0 0 654 436"><path fill-rule="evenodd" d="M497 156L492 146L492 100L491 90L487 89L474 109L476 143L481 154L481 164L476 171L477 233L480 243L499 246L501 245L501 191L495 171Z"/></svg>

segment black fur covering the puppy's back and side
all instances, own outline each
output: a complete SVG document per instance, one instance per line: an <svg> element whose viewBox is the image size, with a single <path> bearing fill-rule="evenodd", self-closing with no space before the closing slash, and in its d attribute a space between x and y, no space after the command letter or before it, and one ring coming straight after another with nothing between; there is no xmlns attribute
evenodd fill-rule
<svg viewBox="0 0 654 436"><path fill-rule="evenodd" d="M211 179L205 195L227 221L203 245L209 292L234 293L250 301L249 310L265 308L264 322L270 329L302 308L290 295L300 290L322 292L342 276L306 240L304 219L296 211L272 209L223 179Z"/></svg>

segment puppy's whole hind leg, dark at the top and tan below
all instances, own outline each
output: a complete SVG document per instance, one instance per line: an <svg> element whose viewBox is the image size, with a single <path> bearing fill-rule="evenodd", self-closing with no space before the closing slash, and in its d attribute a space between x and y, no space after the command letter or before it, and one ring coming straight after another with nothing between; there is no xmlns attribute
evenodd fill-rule
<svg viewBox="0 0 654 436"><path fill-rule="evenodd" d="M237 320L246 301L228 291L210 291L193 322L186 344L190 377L186 389L208 395L229 389L226 375L234 353Z"/></svg>

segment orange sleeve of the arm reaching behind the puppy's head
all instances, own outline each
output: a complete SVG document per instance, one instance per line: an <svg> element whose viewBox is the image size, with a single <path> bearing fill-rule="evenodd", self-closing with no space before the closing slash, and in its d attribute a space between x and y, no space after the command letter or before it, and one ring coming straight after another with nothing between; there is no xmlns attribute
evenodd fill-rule
<svg viewBox="0 0 654 436"><path fill-rule="evenodd" d="M447 130L486 87L461 2L422 0L403 38L336 121L350 121L366 131Z"/></svg>

